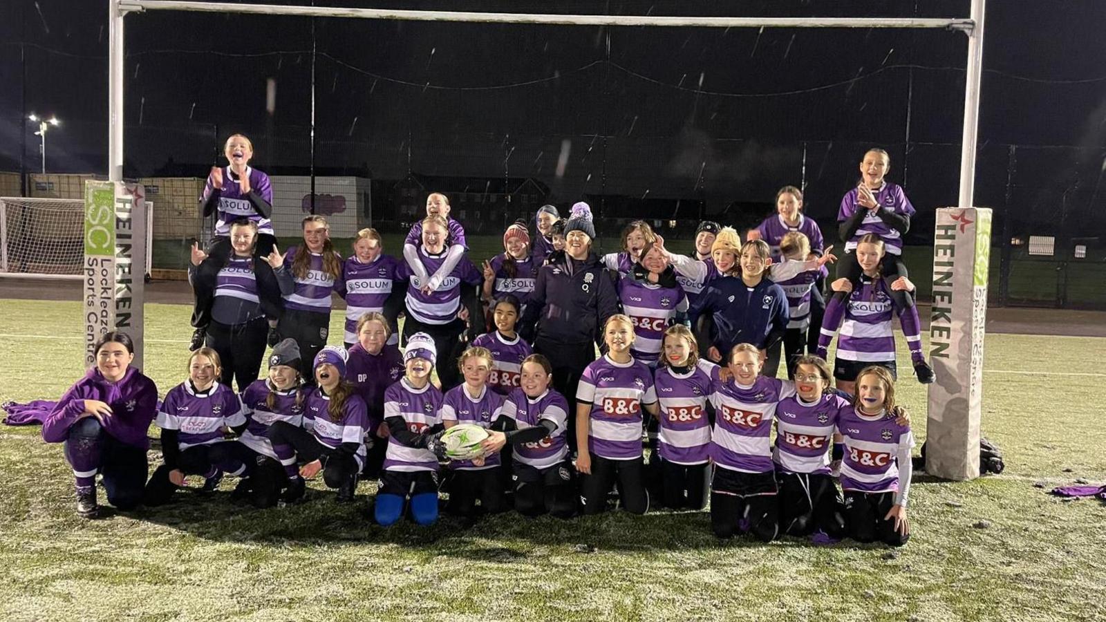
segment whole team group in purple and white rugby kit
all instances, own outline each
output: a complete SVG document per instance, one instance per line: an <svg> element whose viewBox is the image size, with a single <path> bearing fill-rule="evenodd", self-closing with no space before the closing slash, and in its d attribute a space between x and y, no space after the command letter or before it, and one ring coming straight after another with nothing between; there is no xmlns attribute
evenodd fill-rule
<svg viewBox="0 0 1106 622"><path fill-rule="evenodd" d="M51 419L48 439L66 442L82 515L97 510L94 488L88 497L97 470L117 507L165 502L189 475L202 476L201 490L213 490L223 474L239 477L237 500L259 507L279 498L296 502L304 497L304 478L322 471L340 500L353 499L359 477L379 477L374 516L382 525L405 509L417 522L431 522L439 437L463 422L491 431L484 459L448 468L448 507L465 516L512 502L529 516L593 514L606 507L617 483L622 507L633 512L647 511L650 494L654 505L702 508L709 490L722 537L741 529L762 539L780 530L836 538L848 523L859 526L851 527L857 539L878 532L905 541L909 460L902 464L897 453L876 446L888 435L908 445L908 427L880 428L875 440L855 432L872 426L835 432L846 410L862 422L896 412L893 312L919 380L932 380L921 357L912 286L901 261L887 258L900 256L912 207L900 188L884 182L886 153L865 154L862 183L843 200L846 260L838 263L825 321L816 322L817 283L836 258L802 215L794 187L780 190L778 217L750 231L743 245L733 229L703 221L689 256L671 253L648 224L635 221L623 235L622 252L601 257L593 250L586 204L574 205L566 218L544 206L533 239L525 224L510 226L504 252L481 271L466 257L465 230L437 193L428 197L427 215L413 227L401 259L384 255L379 235L365 229L343 261L325 219L315 216L303 221L303 243L282 255L268 222L268 179L248 166L249 142L232 136L226 152L229 166L212 170L205 194L206 210L219 209L217 234L225 229L226 237L206 251L194 248L190 271L194 323L209 346L194 350L188 380L156 415L164 465L136 494L117 476L107 486L115 467L106 457L100 464L102 456L71 450L111 445L107 454L115 456L118 448L142 448L144 437L132 434L127 443L115 434L121 428L111 402L98 398L122 398L119 387L135 385L122 376L107 380L109 367L90 371L70 392L84 387L93 397L60 405ZM852 263L855 270L841 268ZM345 349L325 346L332 293L346 299ZM406 315L401 351L399 313ZM823 359L804 355L807 329ZM838 329L842 343L831 374L825 349ZM121 352L131 348L124 338L102 345L125 359ZM269 375L257 380L267 340L275 346ZM781 343L797 385L769 377ZM596 346L604 352L598 360ZM439 384L430 381L435 370ZM795 413L832 401L831 375L838 390L856 395L855 404L836 398L837 411L811 415L816 425L783 418L802 421ZM239 393L230 390L232 381ZM783 417L776 414L782 406L790 408ZM88 417L101 424L96 431ZM140 417L132 418L140 425ZM79 419L84 423L72 427L83 440L74 444L70 427ZM651 448L648 465L643 435ZM835 435L846 449L855 446L842 467L844 506L830 500L836 499L827 479ZM791 438L793 447L784 443ZM91 463L97 464L86 468ZM901 483L897 468L904 469ZM885 494L890 496L869 498ZM842 520L843 514L857 518L862 507L872 516L886 511L870 525L867 518Z"/></svg>

